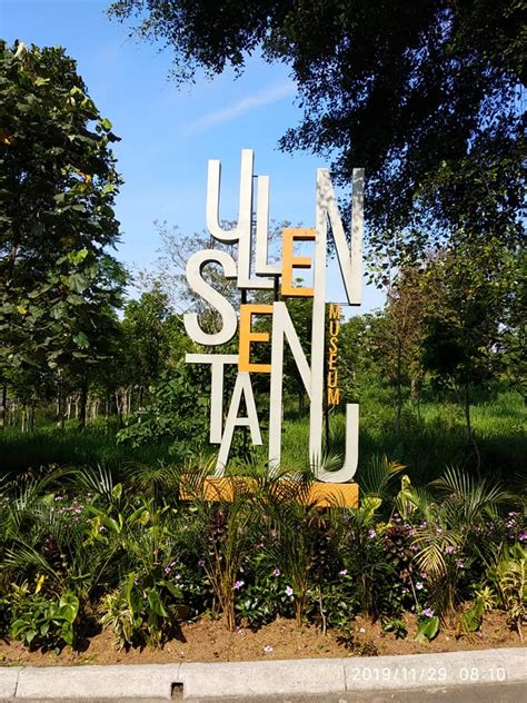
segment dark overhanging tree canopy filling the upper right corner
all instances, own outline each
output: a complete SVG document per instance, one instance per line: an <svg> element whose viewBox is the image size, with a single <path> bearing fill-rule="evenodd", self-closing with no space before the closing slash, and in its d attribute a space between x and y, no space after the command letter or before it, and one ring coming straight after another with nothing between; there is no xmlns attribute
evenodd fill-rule
<svg viewBox="0 0 527 703"><path fill-rule="evenodd" d="M298 86L304 119L286 150L367 169L372 250L391 261L490 229L516 246L524 117L520 0L117 0L140 36L191 80L261 51Z"/></svg>

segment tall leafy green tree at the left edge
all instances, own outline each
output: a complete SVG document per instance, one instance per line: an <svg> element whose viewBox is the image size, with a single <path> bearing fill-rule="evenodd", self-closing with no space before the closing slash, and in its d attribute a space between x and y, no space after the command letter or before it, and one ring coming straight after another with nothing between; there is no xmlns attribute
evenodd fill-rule
<svg viewBox="0 0 527 703"><path fill-rule="evenodd" d="M125 284L116 140L62 49L0 42L0 372L52 369L61 402L74 378L84 408Z"/></svg>

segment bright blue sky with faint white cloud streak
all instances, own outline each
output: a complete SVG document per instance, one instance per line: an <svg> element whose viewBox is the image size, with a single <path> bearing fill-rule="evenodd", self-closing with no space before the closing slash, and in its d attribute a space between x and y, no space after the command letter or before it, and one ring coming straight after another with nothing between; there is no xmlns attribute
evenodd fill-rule
<svg viewBox="0 0 527 703"><path fill-rule="evenodd" d="M118 257L129 267L153 266L160 244L155 220L183 232L205 228L210 158L222 162L221 216L235 219L242 148L255 149L256 172L270 176L271 218L314 226L316 169L327 164L278 150L279 137L300 118L287 68L255 57L238 79L227 72L178 89L168 78L170 51L129 39L129 28L106 16L108 6L109 0L0 0L0 36L64 47L121 137L115 148L125 178L116 208ZM328 299L342 295L338 285L328 289ZM357 311L382 299L368 287Z"/></svg>

